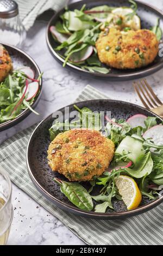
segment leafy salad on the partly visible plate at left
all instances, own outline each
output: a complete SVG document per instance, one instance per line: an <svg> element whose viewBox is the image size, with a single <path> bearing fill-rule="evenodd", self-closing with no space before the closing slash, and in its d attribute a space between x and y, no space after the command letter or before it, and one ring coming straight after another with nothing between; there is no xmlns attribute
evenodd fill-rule
<svg viewBox="0 0 163 256"><path fill-rule="evenodd" d="M32 81L39 82L32 79ZM3 82L0 83L0 124L5 121L15 119L24 109L29 108L35 112L30 105L34 102L35 96L39 93L39 89L31 99L27 99L28 81L27 76L20 70L12 71ZM39 88L39 85L38 85ZM24 91L26 89L26 92Z"/></svg>

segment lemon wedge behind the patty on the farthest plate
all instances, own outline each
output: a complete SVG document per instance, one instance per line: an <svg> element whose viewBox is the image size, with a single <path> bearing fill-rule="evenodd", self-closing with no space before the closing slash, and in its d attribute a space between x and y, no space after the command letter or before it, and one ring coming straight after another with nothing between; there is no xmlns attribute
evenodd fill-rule
<svg viewBox="0 0 163 256"><path fill-rule="evenodd" d="M133 9L131 8L116 8L112 10L112 14L121 16L123 18L124 26L130 27L131 29L134 29L135 31L138 29L141 29L141 21L140 17L137 15L134 15L132 19L128 20L127 16L128 14L133 13Z"/></svg>

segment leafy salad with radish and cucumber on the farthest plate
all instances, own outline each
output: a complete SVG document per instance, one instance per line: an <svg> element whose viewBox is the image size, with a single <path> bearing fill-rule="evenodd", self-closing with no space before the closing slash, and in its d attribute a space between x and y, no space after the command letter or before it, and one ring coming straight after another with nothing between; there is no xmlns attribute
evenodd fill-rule
<svg viewBox="0 0 163 256"><path fill-rule="evenodd" d="M127 33L129 30L141 29L140 17L137 16L137 4L129 0L130 7L110 7L100 5L86 9L86 5L78 10L65 10L60 20L49 28L58 46L54 48L64 58L64 64L71 63L83 70L108 74L111 69L103 66L100 62L96 41L99 34L109 33L110 27L115 27ZM121 10L120 10L121 9ZM158 40L162 38L159 19L156 26L151 28ZM106 49L109 51L109 48Z"/></svg>

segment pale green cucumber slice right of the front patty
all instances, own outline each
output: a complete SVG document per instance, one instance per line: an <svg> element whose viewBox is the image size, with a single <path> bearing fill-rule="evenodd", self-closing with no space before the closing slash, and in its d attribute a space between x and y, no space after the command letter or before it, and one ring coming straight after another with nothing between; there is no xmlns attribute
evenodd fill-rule
<svg viewBox="0 0 163 256"><path fill-rule="evenodd" d="M136 160L145 154L145 150L143 149L143 142L130 136L126 136L116 149L115 153L121 156L129 154L128 159L133 163L136 163Z"/></svg>

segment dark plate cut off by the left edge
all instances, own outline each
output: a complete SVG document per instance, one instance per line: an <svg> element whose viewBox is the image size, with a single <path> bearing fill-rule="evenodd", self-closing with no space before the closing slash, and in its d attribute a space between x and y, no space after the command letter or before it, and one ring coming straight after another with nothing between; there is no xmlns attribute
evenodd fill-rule
<svg viewBox="0 0 163 256"><path fill-rule="evenodd" d="M3 46L8 50L11 56L14 69L21 68L21 66L30 66L30 68L32 68L32 70L35 72L35 78L37 79L37 77L39 77L39 75L41 74L39 67L26 52L23 52L17 47L14 47L11 45L3 44ZM41 97L41 92L42 92L42 79L40 80L40 93L35 97L35 100L31 105L32 108L35 108L37 106L37 103L39 102ZM9 120L3 124L0 124L0 131L6 130L20 123L20 121L26 118L30 113L31 111L27 108L24 111L22 111L15 119Z"/></svg>

